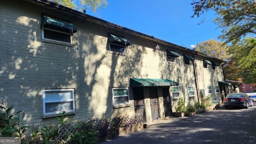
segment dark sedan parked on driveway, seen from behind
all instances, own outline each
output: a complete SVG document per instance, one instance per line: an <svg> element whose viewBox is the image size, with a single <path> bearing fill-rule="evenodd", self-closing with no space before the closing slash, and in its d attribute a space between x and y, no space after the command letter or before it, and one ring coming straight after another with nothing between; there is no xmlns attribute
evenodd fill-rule
<svg viewBox="0 0 256 144"><path fill-rule="evenodd" d="M248 108L248 96L245 93L230 93L224 99L224 107Z"/></svg>

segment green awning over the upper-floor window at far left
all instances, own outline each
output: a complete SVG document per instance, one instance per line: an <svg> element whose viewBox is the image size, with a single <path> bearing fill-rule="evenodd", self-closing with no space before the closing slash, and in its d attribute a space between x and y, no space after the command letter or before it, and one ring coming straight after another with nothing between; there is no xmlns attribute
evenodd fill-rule
<svg viewBox="0 0 256 144"><path fill-rule="evenodd" d="M77 28L76 28L76 26L74 26L74 24L72 24L70 22L64 22L64 21L61 21L61 20L57 20L57 19L51 18L49 16L42 16L41 24L42 25L50 24L50 25L54 25L54 26L58 26L58 27L62 27L62 28L72 30L73 33L77 32Z"/></svg>

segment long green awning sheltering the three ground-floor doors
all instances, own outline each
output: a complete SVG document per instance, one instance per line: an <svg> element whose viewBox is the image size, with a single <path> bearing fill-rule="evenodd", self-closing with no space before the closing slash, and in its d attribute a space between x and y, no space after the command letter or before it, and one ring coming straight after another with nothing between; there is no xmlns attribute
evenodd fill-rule
<svg viewBox="0 0 256 144"><path fill-rule="evenodd" d="M175 81L170 79L140 79L140 78L131 78L130 79L131 87L159 87L159 86L174 86L179 85Z"/></svg>

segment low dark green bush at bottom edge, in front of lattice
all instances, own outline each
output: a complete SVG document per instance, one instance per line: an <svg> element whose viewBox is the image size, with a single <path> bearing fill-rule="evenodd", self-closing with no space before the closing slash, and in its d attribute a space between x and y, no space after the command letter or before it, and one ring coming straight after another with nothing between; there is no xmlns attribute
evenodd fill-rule
<svg viewBox="0 0 256 144"><path fill-rule="evenodd" d="M70 140L70 144L97 144L98 132L94 129L77 131Z"/></svg>

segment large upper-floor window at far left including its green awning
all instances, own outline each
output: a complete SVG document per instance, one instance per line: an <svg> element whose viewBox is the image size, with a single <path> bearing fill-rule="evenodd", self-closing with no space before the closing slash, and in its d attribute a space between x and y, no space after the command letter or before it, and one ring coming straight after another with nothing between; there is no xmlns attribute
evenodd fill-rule
<svg viewBox="0 0 256 144"><path fill-rule="evenodd" d="M72 44L72 35L77 28L70 22L52 16L42 16L42 39Z"/></svg>

